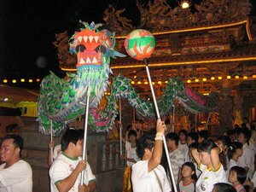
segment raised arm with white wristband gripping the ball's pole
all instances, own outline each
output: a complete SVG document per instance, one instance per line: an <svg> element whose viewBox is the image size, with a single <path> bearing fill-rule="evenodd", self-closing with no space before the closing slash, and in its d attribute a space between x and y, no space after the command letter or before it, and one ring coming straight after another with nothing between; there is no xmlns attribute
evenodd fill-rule
<svg viewBox="0 0 256 192"><path fill-rule="evenodd" d="M156 123L156 135L155 135L155 143L153 154L151 158L148 160L148 172L154 170L156 166L160 165L160 161L162 159L163 154L163 137L166 131L166 124L164 121L157 120Z"/></svg>

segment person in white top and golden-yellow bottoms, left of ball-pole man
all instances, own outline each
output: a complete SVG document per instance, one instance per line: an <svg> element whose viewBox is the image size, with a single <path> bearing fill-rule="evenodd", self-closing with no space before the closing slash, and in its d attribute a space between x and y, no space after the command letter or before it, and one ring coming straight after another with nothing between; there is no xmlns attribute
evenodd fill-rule
<svg viewBox="0 0 256 192"><path fill-rule="evenodd" d="M121 160L127 160L123 177L123 192L131 191L131 166L133 166L139 158L137 157L137 131L130 130L128 132L128 140L122 139L125 143L126 156L120 155Z"/></svg>

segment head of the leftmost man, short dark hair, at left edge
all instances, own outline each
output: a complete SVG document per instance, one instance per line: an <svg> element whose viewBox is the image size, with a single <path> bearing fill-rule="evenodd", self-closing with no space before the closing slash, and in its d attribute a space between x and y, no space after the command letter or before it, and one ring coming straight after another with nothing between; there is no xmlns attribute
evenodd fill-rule
<svg viewBox="0 0 256 192"><path fill-rule="evenodd" d="M22 137L15 134L6 135L5 137L3 137L3 143L1 144L1 160L7 164L14 164L18 160L20 160L20 153L22 148Z"/></svg>

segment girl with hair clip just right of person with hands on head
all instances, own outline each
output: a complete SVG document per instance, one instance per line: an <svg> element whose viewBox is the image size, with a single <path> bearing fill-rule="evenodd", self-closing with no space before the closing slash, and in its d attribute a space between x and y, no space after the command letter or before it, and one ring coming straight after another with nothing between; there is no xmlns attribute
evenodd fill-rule
<svg viewBox="0 0 256 192"><path fill-rule="evenodd" d="M230 145L230 148L228 150L228 157L230 160L230 165L228 168L228 174L230 174L230 168L232 166L238 166L238 158L242 155L242 144L239 142L233 142Z"/></svg>

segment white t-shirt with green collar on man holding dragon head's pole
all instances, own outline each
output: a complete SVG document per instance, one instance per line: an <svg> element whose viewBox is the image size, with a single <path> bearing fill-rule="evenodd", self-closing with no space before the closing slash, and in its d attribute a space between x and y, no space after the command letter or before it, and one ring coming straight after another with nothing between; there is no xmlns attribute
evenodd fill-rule
<svg viewBox="0 0 256 192"><path fill-rule="evenodd" d="M50 177L50 189L51 192L58 192L55 183L58 183L68 177L76 166L79 164L81 157L78 159L72 159L67 157L66 154L61 153L57 156L55 161L49 168L49 177ZM78 192L79 191L79 183L81 179L81 173L79 173L79 177L73 185L73 188L69 191ZM88 185L90 181L96 180L95 175L91 172L90 165L86 162L86 169L84 170L84 184Z"/></svg>

